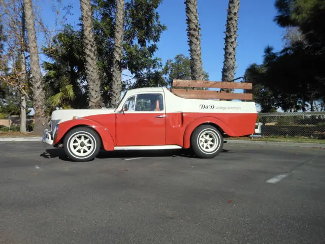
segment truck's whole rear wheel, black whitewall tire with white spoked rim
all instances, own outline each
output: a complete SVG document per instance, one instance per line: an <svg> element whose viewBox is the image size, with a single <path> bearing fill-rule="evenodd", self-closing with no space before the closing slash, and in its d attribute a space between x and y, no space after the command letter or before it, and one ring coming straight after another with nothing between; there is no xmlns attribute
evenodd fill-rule
<svg viewBox="0 0 325 244"><path fill-rule="evenodd" d="M203 140L203 138L206 139ZM200 142L203 144L200 145ZM222 150L223 137L215 127L202 125L194 130L191 136L191 147L199 158L211 159L216 157ZM209 149L209 147L212 148Z"/></svg>

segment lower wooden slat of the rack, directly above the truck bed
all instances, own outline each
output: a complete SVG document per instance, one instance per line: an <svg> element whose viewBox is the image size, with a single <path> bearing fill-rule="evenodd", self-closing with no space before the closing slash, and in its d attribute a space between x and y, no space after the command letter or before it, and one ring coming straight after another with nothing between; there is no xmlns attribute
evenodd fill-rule
<svg viewBox="0 0 325 244"><path fill-rule="evenodd" d="M172 93L182 98L192 99L224 99L224 100L253 100L250 93L220 93L215 90L172 89Z"/></svg>

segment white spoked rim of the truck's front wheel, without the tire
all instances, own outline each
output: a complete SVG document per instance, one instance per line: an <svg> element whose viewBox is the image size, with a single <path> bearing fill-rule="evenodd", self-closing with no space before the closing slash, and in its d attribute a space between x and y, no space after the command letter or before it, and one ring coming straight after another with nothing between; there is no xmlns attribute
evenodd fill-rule
<svg viewBox="0 0 325 244"><path fill-rule="evenodd" d="M94 138L88 133L76 133L69 142L71 153L80 158L91 155L96 146Z"/></svg>

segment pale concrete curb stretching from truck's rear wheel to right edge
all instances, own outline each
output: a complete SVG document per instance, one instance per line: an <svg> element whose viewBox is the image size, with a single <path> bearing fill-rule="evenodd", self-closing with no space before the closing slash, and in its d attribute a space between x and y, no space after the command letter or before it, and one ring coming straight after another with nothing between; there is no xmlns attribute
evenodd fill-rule
<svg viewBox="0 0 325 244"><path fill-rule="evenodd" d="M276 141L248 141L248 140L225 140L227 143L251 144L251 145L272 145L272 146L296 146L310 148L325 148L321 143L300 143L300 142L276 142Z"/></svg>

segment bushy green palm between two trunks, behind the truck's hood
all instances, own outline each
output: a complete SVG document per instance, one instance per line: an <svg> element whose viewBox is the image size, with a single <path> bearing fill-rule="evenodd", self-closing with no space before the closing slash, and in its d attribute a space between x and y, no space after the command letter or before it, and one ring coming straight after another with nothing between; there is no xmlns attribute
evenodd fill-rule
<svg viewBox="0 0 325 244"><path fill-rule="evenodd" d="M52 39L49 46L41 50L48 61L42 63L47 71L44 76L49 106L63 108L87 107L87 82L83 33L66 25L62 32Z"/></svg>

